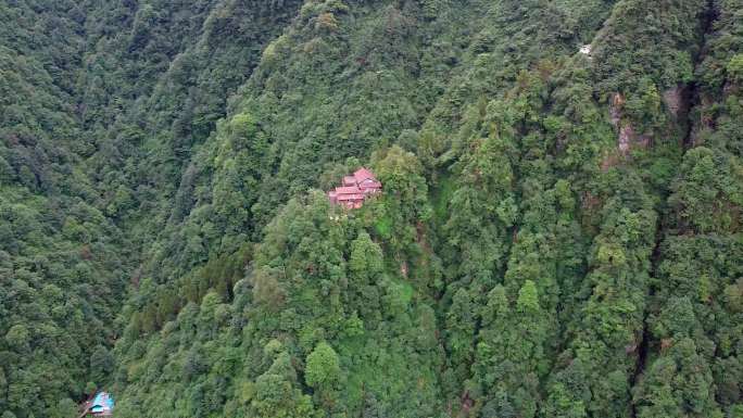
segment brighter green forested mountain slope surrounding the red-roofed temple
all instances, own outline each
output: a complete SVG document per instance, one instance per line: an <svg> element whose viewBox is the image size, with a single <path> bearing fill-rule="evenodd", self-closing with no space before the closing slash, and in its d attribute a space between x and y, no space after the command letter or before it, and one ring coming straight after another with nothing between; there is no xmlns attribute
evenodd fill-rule
<svg viewBox="0 0 743 418"><path fill-rule="evenodd" d="M176 308L173 321L160 313L162 337L147 350L139 333L119 345L130 358L123 382L139 388L124 410L653 414L646 405L665 401L643 373L658 344L647 304L669 286L658 237L670 228L666 199L678 199L675 166L694 129L684 89L701 77L694 66L718 5L382 3L308 2L264 52L210 156L199 159L214 165L194 168L201 204L174 240L181 250L164 257L177 273L214 249L236 252L231 263L249 265L248 277L222 274L224 284L212 256L179 273L182 280L161 280L150 306L186 311ZM374 27L389 40L367 35ZM589 41L591 56L578 54ZM367 42L377 48L372 59L352 53ZM376 93L360 80L374 81ZM436 88L411 87L429 84ZM389 148L395 142L412 153ZM320 198L300 200L261 232L286 199L358 164L323 163L370 150L379 150L372 162L386 185L380 202L333 225ZM251 237L262 243L238 250ZM372 264L354 269L360 245L381 261L366 255ZM135 318L131 332L153 328ZM148 372L133 377L133 368ZM711 377L700 384L707 404L679 404L679 416L734 413L736 401L716 406ZM174 387L184 396L160 402Z"/></svg>

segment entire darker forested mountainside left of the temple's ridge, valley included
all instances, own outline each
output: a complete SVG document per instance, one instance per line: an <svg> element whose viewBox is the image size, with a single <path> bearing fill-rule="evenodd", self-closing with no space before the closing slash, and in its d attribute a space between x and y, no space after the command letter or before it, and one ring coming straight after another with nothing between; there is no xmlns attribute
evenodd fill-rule
<svg viewBox="0 0 743 418"><path fill-rule="evenodd" d="M272 25L299 5L259 3L0 5L7 415L72 416L109 380L125 289L188 157L178 149L209 135Z"/></svg>

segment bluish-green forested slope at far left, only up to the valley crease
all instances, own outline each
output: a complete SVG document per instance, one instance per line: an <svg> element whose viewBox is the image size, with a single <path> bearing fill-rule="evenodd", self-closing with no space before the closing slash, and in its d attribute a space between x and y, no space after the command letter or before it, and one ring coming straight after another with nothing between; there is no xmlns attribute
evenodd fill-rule
<svg viewBox="0 0 743 418"><path fill-rule="evenodd" d="M72 2L0 4L3 417L74 413L67 395L113 370L130 250L79 164L83 16Z"/></svg>

